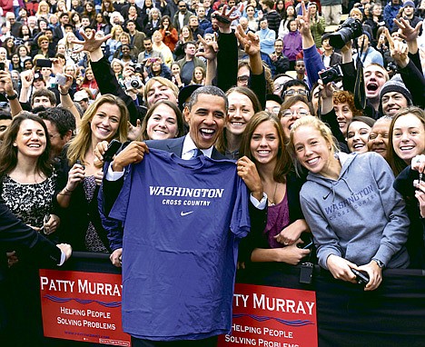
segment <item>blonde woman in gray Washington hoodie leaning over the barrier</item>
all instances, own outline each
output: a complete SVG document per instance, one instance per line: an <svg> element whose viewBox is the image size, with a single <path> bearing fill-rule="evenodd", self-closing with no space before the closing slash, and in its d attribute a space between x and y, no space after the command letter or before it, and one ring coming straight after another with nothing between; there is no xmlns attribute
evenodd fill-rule
<svg viewBox="0 0 425 347"><path fill-rule="evenodd" d="M405 204L379 154L339 153L331 130L316 117L292 125L289 149L309 174L301 188L301 209L310 225L321 267L355 283L351 269L378 288L382 268L406 268L409 231Z"/></svg>

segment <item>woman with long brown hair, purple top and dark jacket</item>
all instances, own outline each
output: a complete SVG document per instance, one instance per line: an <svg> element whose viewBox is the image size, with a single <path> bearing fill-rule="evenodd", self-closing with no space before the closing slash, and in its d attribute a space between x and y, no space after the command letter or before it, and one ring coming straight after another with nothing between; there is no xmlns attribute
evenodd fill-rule
<svg viewBox="0 0 425 347"><path fill-rule="evenodd" d="M266 112L254 114L246 125L240 162L251 167L250 185L262 185L268 197L267 225L263 233L251 233L242 241L245 265L275 262L296 265L310 253L302 248L301 233L310 233L301 212L299 194L303 180L292 172L291 157L284 145L282 125ZM240 175L242 171L238 171ZM304 244L306 246L306 244Z"/></svg>

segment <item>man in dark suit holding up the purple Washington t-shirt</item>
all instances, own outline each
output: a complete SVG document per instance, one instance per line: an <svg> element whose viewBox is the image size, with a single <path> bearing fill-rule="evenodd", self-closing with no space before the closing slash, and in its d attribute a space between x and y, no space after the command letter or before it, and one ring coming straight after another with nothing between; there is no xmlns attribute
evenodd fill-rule
<svg viewBox="0 0 425 347"><path fill-rule="evenodd" d="M222 130L226 123L227 107L227 98L221 89L212 85L203 86L193 92L189 103L185 106L183 111L185 120L189 124L189 134L177 139L146 141L146 143L132 142L131 144L128 144L128 146L126 146L121 153L115 156L114 161L107 170L108 173L106 175L106 178L104 179L104 207L106 208L106 212L109 213L109 209L112 207L112 203L114 203L117 194L123 186L122 176L124 175L125 167L129 164L140 163L143 160L145 154L149 155L149 148L161 149L163 151L176 154L183 160L189 160L199 155L205 155L215 160L227 159L222 154L220 154L214 147L217 137L222 134ZM240 165L242 166L244 165L244 163L238 163L238 166ZM115 179L118 180L111 181ZM250 180L251 178L248 176L242 176L242 179L245 181ZM266 197L262 192L262 187L258 187L258 189L252 191L251 202L255 206L265 207L265 199ZM262 231L264 229L266 221L265 210L260 210L259 208L250 206L250 216L252 223L256 224L255 226L253 226L252 224L251 229L256 228L256 230ZM212 216L212 218L214 218L214 216ZM196 231L191 231L191 233L192 232L196 233ZM219 231L217 231L217 233L219 233ZM113 253L113 262L114 256L121 257L122 252L123 251L121 249L116 250ZM222 249L216 250L216 252L226 253L229 252L229 250L226 251ZM232 258L232 261L234 261L234 258ZM164 264L164 266L166 266L166 264ZM233 265L229 264L229 266L234 266L234 263ZM129 270L127 269L127 271ZM195 303L193 304L194 306L196 306ZM193 310L196 310L196 307L194 307ZM230 312L227 313L230 314ZM225 319L226 318L224 318L224 320ZM217 337L214 335L221 332L209 333L208 329L210 329L210 326L203 327L203 332L199 332L199 336L201 337L196 335L196 337L190 338L191 342L187 342L189 343L188 345L206 347L215 346L217 342ZM205 338L204 336L207 337ZM151 341L151 338L145 340L146 338L133 336L132 344L135 347L186 345L184 337L182 336L180 338L183 340L179 340L179 336L154 336L152 337ZM165 340L166 342L156 340Z"/></svg>

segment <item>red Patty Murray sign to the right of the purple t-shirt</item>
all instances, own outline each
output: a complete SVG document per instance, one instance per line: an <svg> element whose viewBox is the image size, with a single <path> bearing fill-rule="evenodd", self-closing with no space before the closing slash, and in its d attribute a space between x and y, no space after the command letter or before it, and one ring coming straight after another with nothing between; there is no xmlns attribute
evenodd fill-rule
<svg viewBox="0 0 425 347"><path fill-rule="evenodd" d="M219 347L317 347L316 293L236 283L232 333Z"/></svg>

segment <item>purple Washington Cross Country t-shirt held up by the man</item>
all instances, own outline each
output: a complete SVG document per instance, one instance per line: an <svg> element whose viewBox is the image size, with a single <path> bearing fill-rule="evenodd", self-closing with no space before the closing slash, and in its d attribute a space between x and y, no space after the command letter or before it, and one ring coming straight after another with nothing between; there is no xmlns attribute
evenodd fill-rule
<svg viewBox="0 0 425 347"><path fill-rule="evenodd" d="M249 195L232 161L151 149L110 216L124 222L124 332L154 341L229 332Z"/></svg>

